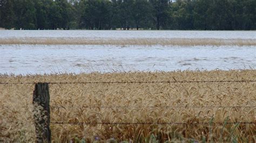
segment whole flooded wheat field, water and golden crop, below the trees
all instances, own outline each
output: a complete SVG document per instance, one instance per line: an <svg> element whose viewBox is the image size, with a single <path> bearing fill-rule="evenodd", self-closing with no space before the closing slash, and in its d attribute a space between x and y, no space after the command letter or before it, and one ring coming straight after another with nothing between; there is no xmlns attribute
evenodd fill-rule
<svg viewBox="0 0 256 143"><path fill-rule="evenodd" d="M37 82L53 142L255 142L255 35L0 31L0 142L36 142Z"/></svg>

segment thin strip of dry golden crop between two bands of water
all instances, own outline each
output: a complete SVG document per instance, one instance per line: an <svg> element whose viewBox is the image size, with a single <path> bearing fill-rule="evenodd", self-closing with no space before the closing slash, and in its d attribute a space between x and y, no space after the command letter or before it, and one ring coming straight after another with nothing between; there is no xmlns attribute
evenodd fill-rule
<svg viewBox="0 0 256 143"><path fill-rule="evenodd" d="M255 39L81 39L81 38L9 38L0 39L0 45L5 44L38 44L38 45L177 45L177 46L256 46Z"/></svg>

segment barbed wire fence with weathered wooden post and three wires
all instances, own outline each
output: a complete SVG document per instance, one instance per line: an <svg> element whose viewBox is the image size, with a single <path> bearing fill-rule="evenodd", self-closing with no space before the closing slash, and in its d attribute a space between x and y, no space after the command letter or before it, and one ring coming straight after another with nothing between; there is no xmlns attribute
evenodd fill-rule
<svg viewBox="0 0 256 143"><path fill-rule="evenodd" d="M154 84L154 83L252 83L256 80L234 80L234 81L108 81L108 82L18 82L18 83L8 83L0 82L0 84L33 84L35 85L35 90L33 91L33 104L35 105L35 110L38 105L43 107L41 110L41 116L48 118L47 120L38 119L35 117L35 126L37 132L37 140L48 140L51 142L51 131L50 124L69 124L69 125L223 125L223 124L244 124L244 125L255 125L256 122L252 121L237 121L237 122L227 122L227 123L161 123L161 122L138 122L138 123L122 123L122 122L63 122L63 121L50 121L50 109L52 108L79 108L79 109L93 109L93 108L109 108L109 109L140 109L140 108L256 108L256 106L62 106L62 105L51 105L50 106L50 94L49 94L49 84L120 84L120 83L131 83L131 84ZM4 108L9 108L3 106ZM38 124L40 123L40 124Z"/></svg>

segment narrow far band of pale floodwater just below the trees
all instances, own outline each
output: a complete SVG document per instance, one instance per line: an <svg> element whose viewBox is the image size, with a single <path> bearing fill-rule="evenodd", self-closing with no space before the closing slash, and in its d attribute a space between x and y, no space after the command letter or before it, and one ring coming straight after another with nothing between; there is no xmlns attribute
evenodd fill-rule
<svg viewBox="0 0 256 143"><path fill-rule="evenodd" d="M0 38L214 38L256 39L256 31L0 31Z"/></svg>

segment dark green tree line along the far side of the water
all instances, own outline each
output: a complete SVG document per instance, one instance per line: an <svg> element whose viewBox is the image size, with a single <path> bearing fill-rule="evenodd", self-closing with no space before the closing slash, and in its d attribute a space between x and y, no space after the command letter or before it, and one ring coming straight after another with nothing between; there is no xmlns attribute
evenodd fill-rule
<svg viewBox="0 0 256 143"><path fill-rule="evenodd" d="M0 0L0 27L256 30L256 0Z"/></svg>

